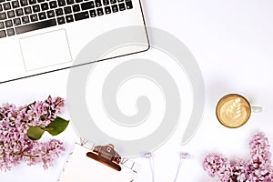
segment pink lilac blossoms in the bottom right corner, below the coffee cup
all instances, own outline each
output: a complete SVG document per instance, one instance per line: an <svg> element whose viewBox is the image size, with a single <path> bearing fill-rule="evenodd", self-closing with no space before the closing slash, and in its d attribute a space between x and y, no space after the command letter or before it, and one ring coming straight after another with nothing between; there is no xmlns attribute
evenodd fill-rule
<svg viewBox="0 0 273 182"><path fill-rule="evenodd" d="M218 182L272 182L273 166L268 137L258 133L249 141L250 160L228 161L221 154L207 154L203 168Z"/></svg>

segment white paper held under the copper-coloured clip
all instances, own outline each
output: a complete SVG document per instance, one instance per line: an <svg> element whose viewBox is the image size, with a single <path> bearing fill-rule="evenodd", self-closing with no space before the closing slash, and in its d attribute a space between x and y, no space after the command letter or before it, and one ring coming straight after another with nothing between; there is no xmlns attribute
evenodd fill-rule
<svg viewBox="0 0 273 182"><path fill-rule="evenodd" d="M135 180L139 166L131 159L122 158L119 164L122 169L121 171L116 171L90 157L86 157L86 153L90 151L90 147L81 142L76 143L74 151L68 157L66 166L58 181L132 182Z"/></svg>

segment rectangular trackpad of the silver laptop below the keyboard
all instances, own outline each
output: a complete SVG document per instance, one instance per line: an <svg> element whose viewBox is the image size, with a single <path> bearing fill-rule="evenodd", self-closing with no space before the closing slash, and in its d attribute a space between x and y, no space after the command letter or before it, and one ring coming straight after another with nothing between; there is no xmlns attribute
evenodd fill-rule
<svg viewBox="0 0 273 182"><path fill-rule="evenodd" d="M21 38L20 45L26 71L72 61L65 29Z"/></svg>

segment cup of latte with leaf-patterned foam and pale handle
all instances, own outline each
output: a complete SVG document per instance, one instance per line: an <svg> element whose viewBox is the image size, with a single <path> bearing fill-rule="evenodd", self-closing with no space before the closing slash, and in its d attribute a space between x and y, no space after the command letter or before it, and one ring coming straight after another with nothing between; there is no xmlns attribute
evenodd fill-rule
<svg viewBox="0 0 273 182"><path fill-rule="evenodd" d="M216 114L218 121L231 128L243 126L248 122L251 113L262 111L260 106L250 106L244 96L229 94L223 96L217 103Z"/></svg>

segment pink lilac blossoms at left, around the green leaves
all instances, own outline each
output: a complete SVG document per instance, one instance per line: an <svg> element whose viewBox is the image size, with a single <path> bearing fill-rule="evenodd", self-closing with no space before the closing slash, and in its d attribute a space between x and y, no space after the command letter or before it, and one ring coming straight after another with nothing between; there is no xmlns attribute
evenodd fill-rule
<svg viewBox="0 0 273 182"><path fill-rule="evenodd" d="M63 143L51 139L38 142L30 139L30 127L44 129L55 121L65 106L60 97L48 96L45 102L37 101L28 106L4 104L0 107L0 169L10 170L22 161L28 165L42 162L44 168L53 165L54 159L65 151Z"/></svg>

